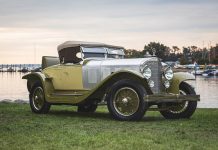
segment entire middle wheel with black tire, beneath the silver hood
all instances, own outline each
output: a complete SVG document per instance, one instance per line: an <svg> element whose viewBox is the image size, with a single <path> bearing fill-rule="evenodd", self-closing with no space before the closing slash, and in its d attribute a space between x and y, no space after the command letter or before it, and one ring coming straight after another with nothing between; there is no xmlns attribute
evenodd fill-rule
<svg viewBox="0 0 218 150"><path fill-rule="evenodd" d="M131 94L129 97L127 97L127 93L126 96L124 96L124 93L122 95L122 92L124 92L125 90L127 93L129 92L129 94ZM148 104L144 101L145 95L146 90L141 84L132 80L120 80L112 85L109 93L107 94L106 100L108 110L112 117L116 120L138 121L142 119L145 111L148 108ZM122 100L119 99L120 97L122 97ZM126 115L121 112L122 110L120 110L118 108L119 106L117 105L120 105L120 107L123 107L124 109L131 109L131 111L133 111L133 109L135 110L130 114Z"/></svg>

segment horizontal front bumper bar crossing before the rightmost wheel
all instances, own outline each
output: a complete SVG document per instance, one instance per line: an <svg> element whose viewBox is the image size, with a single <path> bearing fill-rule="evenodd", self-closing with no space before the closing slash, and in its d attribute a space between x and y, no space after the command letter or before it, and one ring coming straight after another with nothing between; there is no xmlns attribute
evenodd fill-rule
<svg viewBox="0 0 218 150"><path fill-rule="evenodd" d="M200 101L200 95L177 95L177 94L154 94L144 97L146 102L183 102L183 101Z"/></svg>

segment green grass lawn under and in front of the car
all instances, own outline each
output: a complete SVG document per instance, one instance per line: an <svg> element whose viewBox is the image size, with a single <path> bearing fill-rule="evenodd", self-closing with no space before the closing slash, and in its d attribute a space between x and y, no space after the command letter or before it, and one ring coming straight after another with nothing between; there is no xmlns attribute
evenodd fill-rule
<svg viewBox="0 0 218 150"><path fill-rule="evenodd" d="M0 103L0 149L218 149L218 109L182 120L147 112L140 122L113 120L102 106L93 114L75 110L52 106L37 115L28 104Z"/></svg>

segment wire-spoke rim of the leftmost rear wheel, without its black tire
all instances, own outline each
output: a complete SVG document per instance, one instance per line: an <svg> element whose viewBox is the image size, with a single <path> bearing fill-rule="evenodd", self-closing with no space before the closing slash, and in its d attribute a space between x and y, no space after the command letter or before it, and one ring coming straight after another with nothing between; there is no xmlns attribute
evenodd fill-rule
<svg viewBox="0 0 218 150"><path fill-rule="evenodd" d="M45 98L44 98L43 89L41 87L37 87L34 90L32 100L33 100L33 106L36 110L42 109L45 102Z"/></svg>

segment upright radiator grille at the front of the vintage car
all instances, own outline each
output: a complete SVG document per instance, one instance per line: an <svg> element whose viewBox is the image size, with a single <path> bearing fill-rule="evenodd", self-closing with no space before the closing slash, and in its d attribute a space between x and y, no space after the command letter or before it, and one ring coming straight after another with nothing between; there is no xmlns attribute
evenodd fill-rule
<svg viewBox="0 0 218 150"><path fill-rule="evenodd" d="M160 93L162 89L161 62L157 59L157 60L148 61L146 65L148 65L152 71L152 75L149 80L154 81L154 87L152 87L151 90L153 93Z"/></svg>

